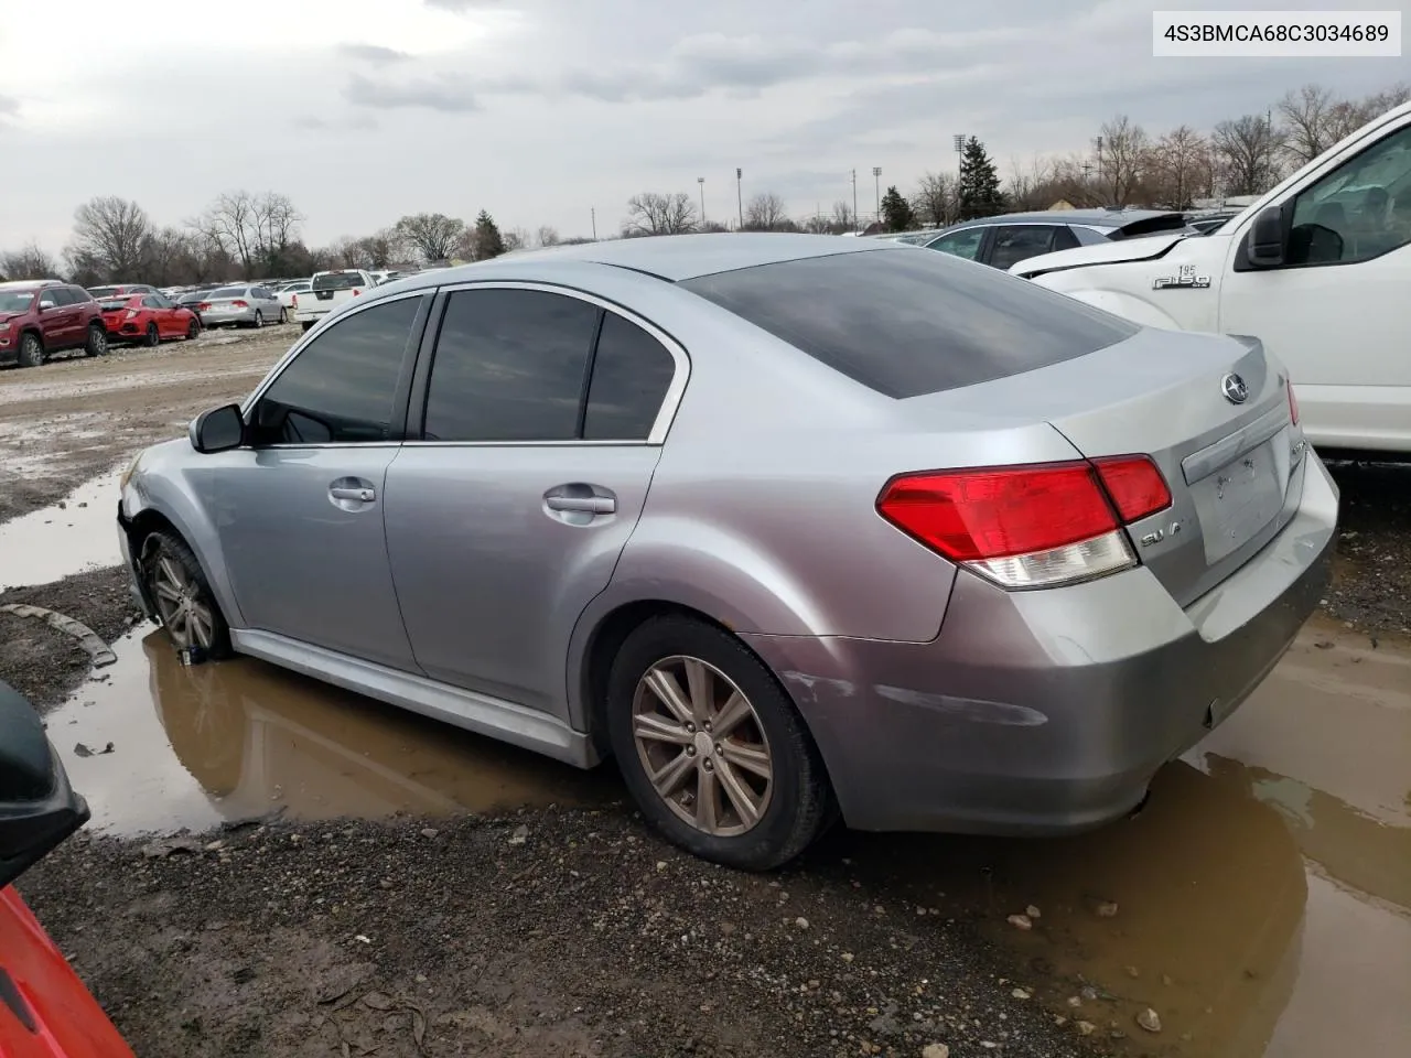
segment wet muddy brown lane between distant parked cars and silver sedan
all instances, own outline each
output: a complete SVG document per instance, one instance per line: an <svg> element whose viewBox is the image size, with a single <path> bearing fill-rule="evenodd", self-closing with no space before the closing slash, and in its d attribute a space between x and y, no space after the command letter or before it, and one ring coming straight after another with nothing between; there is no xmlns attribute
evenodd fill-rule
<svg viewBox="0 0 1411 1058"><path fill-rule="evenodd" d="M0 368L0 522L59 502L206 408L248 394L299 329L214 332L157 350ZM65 571L72 571L65 570Z"/></svg>

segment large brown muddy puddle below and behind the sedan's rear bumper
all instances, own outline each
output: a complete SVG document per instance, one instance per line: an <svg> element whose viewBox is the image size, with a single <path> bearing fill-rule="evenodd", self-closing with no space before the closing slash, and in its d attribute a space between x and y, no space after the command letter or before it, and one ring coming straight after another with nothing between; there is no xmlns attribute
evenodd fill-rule
<svg viewBox="0 0 1411 1058"><path fill-rule="evenodd" d="M1407 1054L1408 789L1411 655L1319 622L1136 818L1051 841L851 835L842 855L879 896L975 908L1017 983L1118 1054Z"/></svg>

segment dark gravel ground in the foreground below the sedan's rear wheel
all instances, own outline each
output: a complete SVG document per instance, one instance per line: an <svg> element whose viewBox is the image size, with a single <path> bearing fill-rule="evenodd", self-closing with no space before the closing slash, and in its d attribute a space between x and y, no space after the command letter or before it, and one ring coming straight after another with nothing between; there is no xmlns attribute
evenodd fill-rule
<svg viewBox="0 0 1411 1058"><path fill-rule="evenodd" d="M144 1058L1085 1052L964 916L825 851L739 875L625 808L172 845L79 835L21 883Z"/></svg>

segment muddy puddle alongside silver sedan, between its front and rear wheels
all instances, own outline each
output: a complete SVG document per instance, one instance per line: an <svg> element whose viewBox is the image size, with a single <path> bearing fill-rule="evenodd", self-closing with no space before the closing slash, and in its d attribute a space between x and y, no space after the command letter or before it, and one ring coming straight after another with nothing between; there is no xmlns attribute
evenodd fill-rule
<svg viewBox="0 0 1411 1058"><path fill-rule="evenodd" d="M579 772L262 662L183 667L159 631L116 650L117 664L48 718L95 829L200 829L279 808L315 820L450 815L621 794L611 769ZM111 753L73 752L107 742Z"/></svg>

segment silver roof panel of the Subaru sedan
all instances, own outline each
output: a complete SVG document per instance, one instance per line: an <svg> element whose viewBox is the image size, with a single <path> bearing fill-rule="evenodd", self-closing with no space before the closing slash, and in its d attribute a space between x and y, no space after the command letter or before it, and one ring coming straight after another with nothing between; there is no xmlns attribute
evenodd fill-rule
<svg viewBox="0 0 1411 1058"><path fill-rule="evenodd" d="M643 238L614 238L605 243L580 243L531 250L512 257L514 264L538 264L559 261L587 261L615 265L636 272L655 275L670 282L693 279L714 272L732 272L738 268L797 261L806 257L830 257L832 254L859 254L896 248L889 243L842 240L837 236L794 236L785 233L717 233L703 236L648 236ZM461 275L476 278L490 268L497 268L502 258L477 261L436 272L399 279L398 288L418 285L442 285L456 282ZM498 265L505 268L509 262ZM423 284L416 279L425 276ZM405 284L405 286L404 286Z"/></svg>

